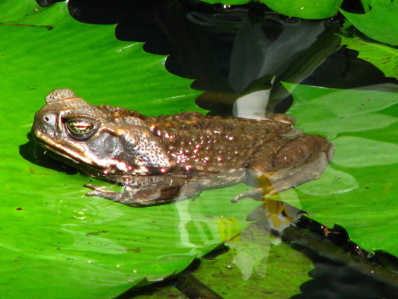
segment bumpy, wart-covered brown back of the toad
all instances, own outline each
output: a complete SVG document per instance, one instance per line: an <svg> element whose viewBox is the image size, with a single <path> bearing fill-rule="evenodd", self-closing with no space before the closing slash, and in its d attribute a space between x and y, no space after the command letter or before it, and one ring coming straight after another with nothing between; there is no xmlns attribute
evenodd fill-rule
<svg viewBox="0 0 398 299"><path fill-rule="evenodd" d="M198 172L246 167L267 143L284 144L296 132L292 117L286 122L254 121L184 112L144 120L178 164Z"/></svg>

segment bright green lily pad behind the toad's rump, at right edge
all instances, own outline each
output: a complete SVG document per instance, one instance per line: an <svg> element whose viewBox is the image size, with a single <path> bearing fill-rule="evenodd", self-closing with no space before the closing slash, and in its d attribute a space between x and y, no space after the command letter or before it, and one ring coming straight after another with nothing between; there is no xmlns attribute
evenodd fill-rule
<svg viewBox="0 0 398 299"><path fill-rule="evenodd" d="M298 128L329 137L335 157L318 180L278 195L368 251L398 256L398 94L285 84ZM299 206L297 199L299 198Z"/></svg>

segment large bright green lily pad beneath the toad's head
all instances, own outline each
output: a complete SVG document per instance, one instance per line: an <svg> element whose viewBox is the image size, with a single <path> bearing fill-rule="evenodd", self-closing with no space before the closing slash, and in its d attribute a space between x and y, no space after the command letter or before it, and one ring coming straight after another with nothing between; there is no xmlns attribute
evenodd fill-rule
<svg viewBox="0 0 398 299"><path fill-rule="evenodd" d="M85 197L86 176L24 159L33 115L54 88L151 115L200 111L199 92L165 70L165 56L116 40L114 25L77 22L66 3L4 0L0 11L2 298L113 298L182 271L246 226L258 203L229 202L246 186L134 209Z"/></svg>

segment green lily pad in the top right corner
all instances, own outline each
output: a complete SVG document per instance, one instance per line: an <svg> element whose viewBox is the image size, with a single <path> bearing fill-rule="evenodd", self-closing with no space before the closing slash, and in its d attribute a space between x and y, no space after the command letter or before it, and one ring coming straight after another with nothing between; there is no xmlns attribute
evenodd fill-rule
<svg viewBox="0 0 398 299"><path fill-rule="evenodd" d="M368 1L364 3L368 11ZM378 41L398 45L398 2L373 0L369 12L357 14L340 9L343 15L361 32Z"/></svg>

